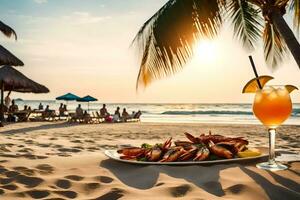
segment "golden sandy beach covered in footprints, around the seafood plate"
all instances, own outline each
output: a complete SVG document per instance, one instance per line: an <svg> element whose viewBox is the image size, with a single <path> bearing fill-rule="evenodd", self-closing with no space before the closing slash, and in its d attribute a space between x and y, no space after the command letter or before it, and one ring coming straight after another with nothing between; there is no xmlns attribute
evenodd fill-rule
<svg viewBox="0 0 300 200"><path fill-rule="evenodd" d="M267 172L255 163L211 166L138 166L108 159L120 144L156 143L183 133L244 136L267 146L258 125L66 122L1 128L1 199L299 199L300 162ZM277 148L299 153L299 126L279 129ZM288 133L288 134L287 134ZM155 197L153 197L155 194Z"/></svg>

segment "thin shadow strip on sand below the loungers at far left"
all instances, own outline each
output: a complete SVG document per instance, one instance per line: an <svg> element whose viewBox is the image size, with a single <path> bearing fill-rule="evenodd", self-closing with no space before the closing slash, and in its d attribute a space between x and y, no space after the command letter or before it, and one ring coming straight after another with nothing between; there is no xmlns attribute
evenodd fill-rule
<svg viewBox="0 0 300 200"><path fill-rule="evenodd" d="M34 123L32 123L32 124L34 124ZM29 133L31 131L53 129L53 128L66 128L66 127L78 126L78 125L79 124L72 124L72 123L69 123L69 122L63 122L63 123L49 122L49 124L43 124L43 125L40 125L40 126L31 126L31 127L26 127L26 128L20 128L20 129L11 129L11 130L7 130L7 131L0 131L0 134Z"/></svg>

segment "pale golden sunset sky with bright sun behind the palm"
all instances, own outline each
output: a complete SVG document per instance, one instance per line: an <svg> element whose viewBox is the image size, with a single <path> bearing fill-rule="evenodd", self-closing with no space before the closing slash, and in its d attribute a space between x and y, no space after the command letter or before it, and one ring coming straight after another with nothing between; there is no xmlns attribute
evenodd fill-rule
<svg viewBox="0 0 300 200"><path fill-rule="evenodd" d="M300 70L292 56L272 71L262 44L245 51L225 23L217 38L199 42L195 56L172 77L135 89L139 63L130 46L141 25L167 0L0 0L0 19L18 40L0 36L1 44L24 63L18 69L46 85L48 94L13 93L13 98L55 99L73 92L106 103L251 103L242 94L253 78L252 55L260 75L272 84L300 87ZM291 19L287 18L290 22ZM292 94L300 102L300 93Z"/></svg>

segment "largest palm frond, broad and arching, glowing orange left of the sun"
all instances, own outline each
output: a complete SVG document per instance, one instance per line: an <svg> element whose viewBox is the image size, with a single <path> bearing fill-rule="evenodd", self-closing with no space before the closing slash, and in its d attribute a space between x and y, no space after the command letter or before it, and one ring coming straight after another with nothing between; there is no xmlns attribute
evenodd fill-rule
<svg viewBox="0 0 300 200"><path fill-rule="evenodd" d="M139 30L133 43L141 51L137 88L176 73L201 37L214 37L220 26L220 0L169 0Z"/></svg>

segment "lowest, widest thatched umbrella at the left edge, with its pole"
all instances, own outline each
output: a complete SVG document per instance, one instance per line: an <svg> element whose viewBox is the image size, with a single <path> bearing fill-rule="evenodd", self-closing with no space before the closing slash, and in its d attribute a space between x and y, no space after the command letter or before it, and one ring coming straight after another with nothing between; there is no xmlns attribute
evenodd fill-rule
<svg viewBox="0 0 300 200"><path fill-rule="evenodd" d="M3 97L4 91L15 91L23 93L48 93L49 89L41 84L27 78L24 74L11 66L5 65L0 68L1 86L1 111L0 118L3 120Z"/></svg>

